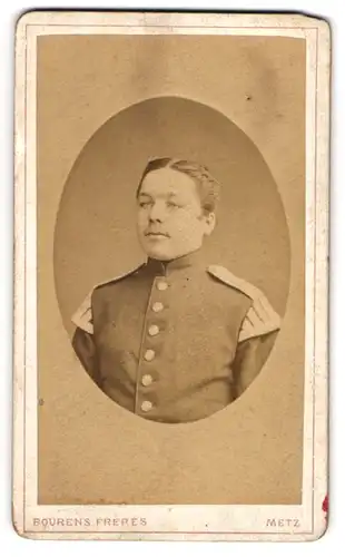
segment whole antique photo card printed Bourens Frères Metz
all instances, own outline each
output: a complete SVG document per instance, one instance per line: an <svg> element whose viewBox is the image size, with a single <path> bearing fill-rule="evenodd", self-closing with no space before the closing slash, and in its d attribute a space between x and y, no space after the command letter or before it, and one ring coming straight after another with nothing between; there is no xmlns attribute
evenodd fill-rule
<svg viewBox="0 0 345 557"><path fill-rule="evenodd" d="M13 527L327 528L328 23L16 28Z"/></svg>

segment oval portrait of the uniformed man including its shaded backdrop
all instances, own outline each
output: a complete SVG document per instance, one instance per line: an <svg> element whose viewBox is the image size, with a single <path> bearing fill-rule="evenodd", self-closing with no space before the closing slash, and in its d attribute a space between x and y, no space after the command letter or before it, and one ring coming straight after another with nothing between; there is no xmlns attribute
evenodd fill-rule
<svg viewBox="0 0 345 557"><path fill-rule="evenodd" d="M214 108L131 105L70 170L55 231L63 325L95 387L140 418L197 421L250 388L283 326L289 265L277 184Z"/></svg>

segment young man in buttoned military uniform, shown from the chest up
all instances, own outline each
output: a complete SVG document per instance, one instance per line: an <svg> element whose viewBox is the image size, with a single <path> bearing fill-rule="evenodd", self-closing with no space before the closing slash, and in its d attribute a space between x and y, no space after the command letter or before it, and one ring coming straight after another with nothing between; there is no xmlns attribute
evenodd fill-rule
<svg viewBox="0 0 345 557"><path fill-rule="evenodd" d="M115 402L178 423L225 408L252 383L279 329L264 294L203 256L219 185L186 160L151 160L137 189L147 263L93 289L73 348Z"/></svg>

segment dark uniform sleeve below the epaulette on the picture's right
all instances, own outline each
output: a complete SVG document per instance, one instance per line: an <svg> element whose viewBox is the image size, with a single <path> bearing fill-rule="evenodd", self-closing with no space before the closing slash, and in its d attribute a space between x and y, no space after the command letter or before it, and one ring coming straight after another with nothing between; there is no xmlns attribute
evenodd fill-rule
<svg viewBox="0 0 345 557"><path fill-rule="evenodd" d="M278 331L249 338L240 342L236 350L233 372L238 398L258 375L273 345Z"/></svg>

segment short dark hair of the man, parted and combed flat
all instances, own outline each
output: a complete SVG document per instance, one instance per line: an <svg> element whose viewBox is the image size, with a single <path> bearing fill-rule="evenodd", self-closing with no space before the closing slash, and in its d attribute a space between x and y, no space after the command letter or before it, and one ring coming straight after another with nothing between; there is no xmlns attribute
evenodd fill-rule
<svg viewBox="0 0 345 557"><path fill-rule="evenodd" d="M137 197L140 194L144 178L149 173L159 170L160 168L171 168L172 170L190 176L197 185L201 208L205 213L213 213L216 209L217 202L219 201L220 184L211 176L206 166L179 158L165 157L149 160L140 178L136 194Z"/></svg>

